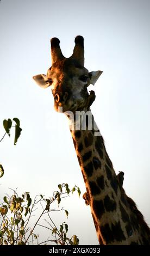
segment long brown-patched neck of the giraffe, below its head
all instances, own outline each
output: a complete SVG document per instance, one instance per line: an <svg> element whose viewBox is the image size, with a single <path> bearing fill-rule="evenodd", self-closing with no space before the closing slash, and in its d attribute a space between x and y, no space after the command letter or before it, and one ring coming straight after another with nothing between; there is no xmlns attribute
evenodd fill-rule
<svg viewBox="0 0 150 256"><path fill-rule="evenodd" d="M82 117L83 124L79 115L76 116L76 121L74 121L75 117L71 115L68 117L99 243L101 245L143 244L136 216L118 183L91 111L88 112L89 123L92 123L90 130L87 127L86 114Z"/></svg>

